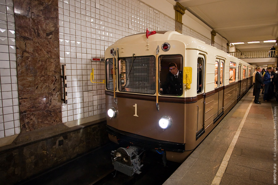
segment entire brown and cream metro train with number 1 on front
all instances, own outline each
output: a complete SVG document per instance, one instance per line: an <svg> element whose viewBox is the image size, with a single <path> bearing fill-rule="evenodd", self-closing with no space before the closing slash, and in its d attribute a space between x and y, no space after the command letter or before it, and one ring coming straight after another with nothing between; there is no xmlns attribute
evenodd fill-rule
<svg viewBox="0 0 278 185"><path fill-rule="evenodd" d="M114 168L141 173L145 150L165 164L183 162L251 88L254 69L176 31L129 35L107 47L107 132L125 146L112 151Z"/></svg>

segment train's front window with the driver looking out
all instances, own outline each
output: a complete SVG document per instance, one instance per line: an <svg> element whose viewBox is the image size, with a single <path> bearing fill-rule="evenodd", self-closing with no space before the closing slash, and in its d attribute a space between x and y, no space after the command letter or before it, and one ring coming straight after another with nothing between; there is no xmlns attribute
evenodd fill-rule
<svg viewBox="0 0 278 185"><path fill-rule="evenodd" d="M159 56L159 93L162 95L183 94L183 57L181 55Z"/></svg>

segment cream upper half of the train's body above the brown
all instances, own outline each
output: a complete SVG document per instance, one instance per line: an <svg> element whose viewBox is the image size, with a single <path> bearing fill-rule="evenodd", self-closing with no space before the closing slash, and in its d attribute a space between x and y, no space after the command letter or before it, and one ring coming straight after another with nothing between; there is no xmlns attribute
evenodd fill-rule
<svg viewBox="0 0 278 185"><path fill-rule="evenodd" d="M166 72L169 73L168 63L177 63L178 70L183 71L183 84L181 93L163 94L162 92L156 91L155 87L152 90L148 89L146 91L136 92L146 95L155 95L158 92L160 96L196 97L197 94L213 91L216 87L221 87L223 85L229 85L231 83L237 82L239 79L239 70L241 70L238 69L239 64L241 65L241 68L243 68L243 66L246 67L246 77L250 77L248 74L251 74L252 76L254 71L254 67L250 64L247 64L246 62L191 36L182 35L176 31L157 31L156 34L148 36L147 39L146 34L141 33L119 39L106 49L106 90L113 90L111 86L109 87L109 83L112 83L112 77L110 76L113 74L113 71L111 69L110 72L111 66L110 68L107 66L108 60L110 63L112 63L113 57L112 53L110 52L111 49L115 51L113 54L115 54L115 72L117 76L115 82L116 92L133 92L132 90L129 91L128 88L125 88L124 90L121 88L121 86L126 86L127 83L129 83L126 79L129 74L125 71L127 66L125 65L126 61L124 58L129 58L132 61L136 57L140 58L148 56L148 60L154 60L150 71L152 74L156 73L155 66L159 66L158 74L153 75L154 78L158 78L158 89L161 89L160 85L162 84L163 78L166 78ZM158 60L157 64L156 60ZM162 61L164 61L165 64L163 64ZM217 77L217 80L216 61L219 62L219 68L223 70L221 71L219 77ZM132 64L133 62L130 64L131 68ZM149 68L149 66L144 66L144 64L142 64L142 68L144 67ZM185 74L185 69L192 71L191 73L187 71L187 75ZM201 74L202 79L200 79L200 73L198 73L200 69L203 70ZM232 78L231 70L234 73ZM163 72L165 73L164 75ZM241 70L240 73L240 78L242 80L244 79L242 77L242 75L244 75L243 70ZM141 75L144 76L145 74ZM138 76L140 76L140 74L138 74ZM147 76L149 77L148 80L150 81L150 76ZM188 78L188 76L190 79L187 79L187 82L185 82L185 78ZM223 80L220 78L223 78ZM153 84L155 84L155 79L152 78L151 80L154 80ZM219 81L219 83L217 81ZM190 83L190 85L188 86L186 83ZM152 84L147 83L146 86L152 86Z"/></svg>

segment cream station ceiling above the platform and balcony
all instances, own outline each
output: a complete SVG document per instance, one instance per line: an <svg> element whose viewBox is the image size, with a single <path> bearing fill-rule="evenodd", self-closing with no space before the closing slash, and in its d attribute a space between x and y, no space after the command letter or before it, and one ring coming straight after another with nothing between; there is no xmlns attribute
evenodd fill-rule
<svg viewBox="0 0 278 185"><path fill-rule="evenodd" d="M278 38L278 0L175 0L239 51L269 50ZM247 42L260 41L248 44Z"/></svg>

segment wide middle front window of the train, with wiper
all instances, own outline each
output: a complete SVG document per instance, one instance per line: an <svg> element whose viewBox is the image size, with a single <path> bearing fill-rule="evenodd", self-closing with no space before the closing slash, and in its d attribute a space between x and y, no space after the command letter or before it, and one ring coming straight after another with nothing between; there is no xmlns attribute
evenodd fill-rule
<svg viewBox="0 0 278 185"><path fill-rule="evenodd" d="M155 57L120 58L119 90L143 94L155 93Z"/></svg>

